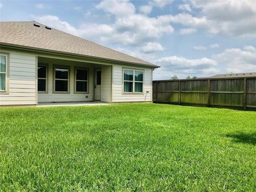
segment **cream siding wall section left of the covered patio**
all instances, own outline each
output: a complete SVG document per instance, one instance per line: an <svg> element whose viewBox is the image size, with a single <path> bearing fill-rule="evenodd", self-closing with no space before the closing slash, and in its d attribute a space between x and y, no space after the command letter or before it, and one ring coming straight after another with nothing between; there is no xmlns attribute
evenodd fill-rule
<svg viewBox="0 0 256 192"><path fill-rule="evenodd" d="M9 93L0 93L0 105L35 105L36 63L35 53L10 51L1 48L0 52L9 53Z"/></svg>

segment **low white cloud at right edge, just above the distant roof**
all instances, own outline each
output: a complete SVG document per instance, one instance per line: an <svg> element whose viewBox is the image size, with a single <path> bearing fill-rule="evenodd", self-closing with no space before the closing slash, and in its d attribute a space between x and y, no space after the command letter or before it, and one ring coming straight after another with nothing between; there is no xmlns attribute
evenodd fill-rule
<svg viewBox="0 0 256 192"><path fill-rule="evenodd" d="M213 55L213 59L225 66L228 73L256 71L255 47L245 46L244 49L226 49L220 54Z"/></svg>

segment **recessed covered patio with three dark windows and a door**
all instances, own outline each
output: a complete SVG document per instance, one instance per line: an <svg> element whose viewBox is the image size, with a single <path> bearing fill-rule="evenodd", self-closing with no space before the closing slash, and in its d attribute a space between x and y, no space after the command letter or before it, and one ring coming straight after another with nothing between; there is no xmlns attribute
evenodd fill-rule
<svg viewBox="0 0 256 192"><path fill-rule="evenodd" d="M38 106L111 102L111 65L51 54L38 55L37 63Z"/></svg>

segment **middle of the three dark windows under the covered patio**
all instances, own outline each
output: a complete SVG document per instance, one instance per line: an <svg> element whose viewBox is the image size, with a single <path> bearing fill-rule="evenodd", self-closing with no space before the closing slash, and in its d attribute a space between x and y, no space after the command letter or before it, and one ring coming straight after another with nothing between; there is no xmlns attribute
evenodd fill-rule
<svg viewBox="0 0 256 192"><path fill-rule="evenodd" d="M69 68L55 67L54 68L54 91L69 92Z"/></svg>

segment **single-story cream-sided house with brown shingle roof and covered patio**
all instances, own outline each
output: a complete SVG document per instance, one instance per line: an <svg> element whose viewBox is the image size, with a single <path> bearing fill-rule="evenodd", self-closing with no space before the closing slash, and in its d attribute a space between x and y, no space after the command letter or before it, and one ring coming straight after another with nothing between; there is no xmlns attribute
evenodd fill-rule
<svg viewBox="0 0 256 192"><path fill-rule="evenodd" d="M0 105L151 102L152 63L35 21L0 22Z"/></svg>

